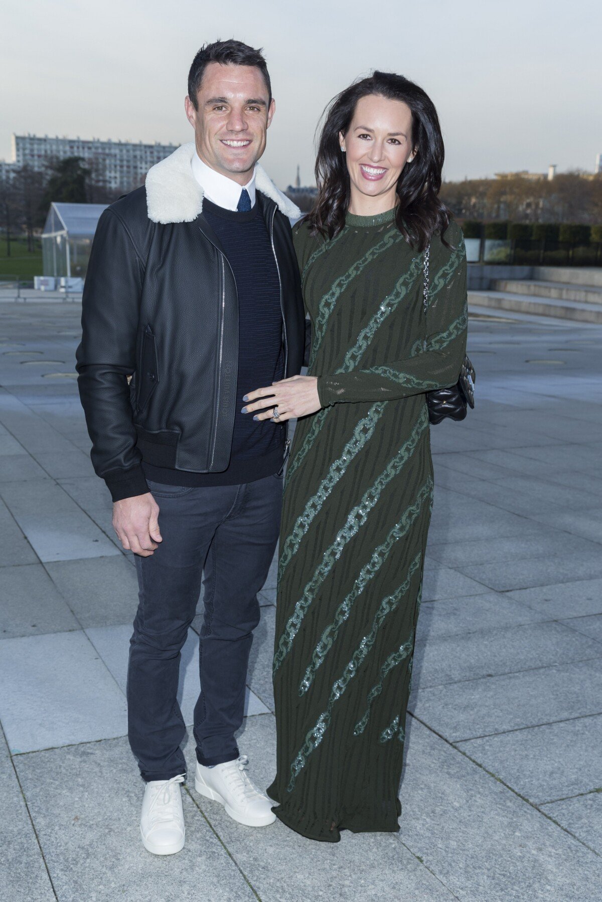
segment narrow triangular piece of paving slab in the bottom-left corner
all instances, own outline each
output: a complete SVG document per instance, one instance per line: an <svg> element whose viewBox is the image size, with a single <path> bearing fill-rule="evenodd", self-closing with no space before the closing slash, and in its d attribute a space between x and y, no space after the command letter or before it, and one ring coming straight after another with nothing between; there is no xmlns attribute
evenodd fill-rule
<svg viewBox="0 0 602 902"><path fill-rule="evenodd" d="M0 732L0 797L2 797L2 902L54 902L42 851L25 807L4 736Z"/></svg>

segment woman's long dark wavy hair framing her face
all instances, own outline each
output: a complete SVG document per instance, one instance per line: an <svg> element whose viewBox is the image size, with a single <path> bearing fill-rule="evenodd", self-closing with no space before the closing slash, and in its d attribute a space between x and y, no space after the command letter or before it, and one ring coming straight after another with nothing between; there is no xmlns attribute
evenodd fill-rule
<svg viewBox="0 0 602 902"><path fill-rule="evenodd" d="M408 78L393 72L376 71L362 78L341 91L326 107L315 170L318 197L307 216L310 233L332 238L345 225L351 187L338 133L347 133L357 101L371 94L402 100L412 110L412 147L416 155L412 162L405 164L397 182L399 205L395 222L406 241L423 251L432 235L443 235L451 216L438 196L443 138L431 98Z"/></svg>

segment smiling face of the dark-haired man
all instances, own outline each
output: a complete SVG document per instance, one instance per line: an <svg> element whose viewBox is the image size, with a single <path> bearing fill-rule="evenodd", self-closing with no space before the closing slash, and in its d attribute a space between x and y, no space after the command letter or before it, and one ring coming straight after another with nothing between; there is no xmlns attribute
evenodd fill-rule
<svg viewBox="0 0 602 902"><path fill-rule="evenodd" d="M185 106L200 159L245 185L265 150L265 133L275 109L260 70L210 62L199 87L198 109L190 97Z"/></svg>

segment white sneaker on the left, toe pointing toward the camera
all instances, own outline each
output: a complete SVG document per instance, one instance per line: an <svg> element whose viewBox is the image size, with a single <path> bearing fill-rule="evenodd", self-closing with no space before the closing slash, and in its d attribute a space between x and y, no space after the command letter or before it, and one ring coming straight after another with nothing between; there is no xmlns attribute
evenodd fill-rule
<svg viewBox="0 0 602 902"><path fill-rule="evenodd" d="M171 780L151 780L144 789L140 833L144 849L153 855L173 855L184 848L186 828L180 784L184 775Z"/></svg>

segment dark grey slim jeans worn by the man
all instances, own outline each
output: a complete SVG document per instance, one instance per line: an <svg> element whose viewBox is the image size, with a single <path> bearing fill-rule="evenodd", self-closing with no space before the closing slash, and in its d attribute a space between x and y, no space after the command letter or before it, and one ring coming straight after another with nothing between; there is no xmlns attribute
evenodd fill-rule
<svg viewBox="0 0 602 902"><path fill-rule="evenodd" d="M144 780L186 772L177 701L181 649L205 587L194 737L201 764L238 757L257 593L280 530L282 476L210 488L148 483L162 542L135 555L138 612L127 673L128 735ZM204 578L203 578L204 576Z"/></svg>

